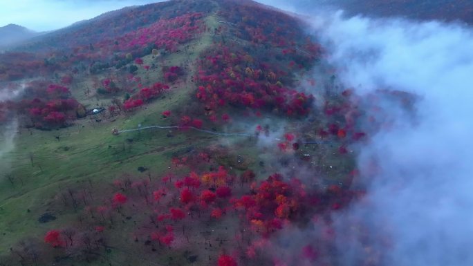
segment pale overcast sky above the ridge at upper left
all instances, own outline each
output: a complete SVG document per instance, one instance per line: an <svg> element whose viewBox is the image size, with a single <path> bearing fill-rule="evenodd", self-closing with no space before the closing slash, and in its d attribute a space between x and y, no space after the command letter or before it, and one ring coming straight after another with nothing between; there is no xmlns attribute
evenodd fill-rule
<svg viewBox="0 0 473 266"><path fill-rule="evenodd" d="M56 30L84 19L160 0L0 0L0 27L10 23L30 30Z"/></svg>

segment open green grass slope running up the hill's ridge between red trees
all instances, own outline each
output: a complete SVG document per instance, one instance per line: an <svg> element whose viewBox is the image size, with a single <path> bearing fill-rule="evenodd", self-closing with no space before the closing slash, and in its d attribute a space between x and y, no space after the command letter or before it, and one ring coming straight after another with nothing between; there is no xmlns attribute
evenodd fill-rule
<svg viewBox="0 0 473 266"><path fill-rule="evenodd" d="M206 23L213 28L216 18L207 17ZM212 34L205 33L192 41L189 54L171 54L160 60L169 65L178 65L184 60L194 62L211 42ZM145 64L151 60L151 55L144 58ZM186 79L191 79L193 67L189 66ZM159 75L151 75L149 79L146 79L145 73L138 75L149 84L160 81ZM95 97L86 97L82 93L84 87L90 86L90 80L89 76L82 77L75 83L73 93L80 102L95 106ZM135 129L138 124L168 126L169 122L160 113L185 106L192 100L193 89L181 84L171 86L164 99L151 102L129 115L118 116L113 122L95 122L86 117L59 131L19 129L21 133L15 140L15 150L6 159L11 161L11 173L8 175L12 177L13 184L8 178L0 180L0 234L4 236L0 242L0 254L8 252L9 247L19 239L40 236L46 227L51 226L39 225L37 218L48 209L45 202L53 200L58 191L80 182L105 183L122 173L139 173L138 167L147 167L150 172L158 173L174 153L185 151L190 144L204 146L215 140L216 137L195 132L167 137L167 130L118 136L111 134L112 129ZM56 135L59 135L59 141Z"/></svg>

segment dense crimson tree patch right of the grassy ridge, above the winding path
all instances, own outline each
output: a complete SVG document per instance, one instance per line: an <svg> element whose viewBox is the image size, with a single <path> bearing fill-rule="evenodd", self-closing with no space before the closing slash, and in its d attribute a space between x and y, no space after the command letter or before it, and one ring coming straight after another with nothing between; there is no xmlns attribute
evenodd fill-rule
<svg viewBox="0 0 473 266"><path fill-rule="evenodd" d="M314 97L288 88L279 82L288 73L260 62L249 65L250 55L216 47L201 61L196 97L216 109L220 106L245 106L277 109L286 115L306 115ZM228 121L228 116L223 117Z"/></svg>

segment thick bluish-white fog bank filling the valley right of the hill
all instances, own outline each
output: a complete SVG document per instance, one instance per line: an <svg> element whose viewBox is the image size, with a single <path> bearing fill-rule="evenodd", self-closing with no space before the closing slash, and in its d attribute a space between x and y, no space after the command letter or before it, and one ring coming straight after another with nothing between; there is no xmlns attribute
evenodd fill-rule
<svg viewBox="0 0 473 266"><path fill-rule="evenodd" d="M341 12L316 16L313 26L338 78L358 94L382 88L420 97L411 114L379 104L394 122L360 149L359 182L368 194L335 217L341 264L380 252L381 265L473 265L473 31L435 21L343 19ZM348 229L349 221L368 231Z"/></svg>

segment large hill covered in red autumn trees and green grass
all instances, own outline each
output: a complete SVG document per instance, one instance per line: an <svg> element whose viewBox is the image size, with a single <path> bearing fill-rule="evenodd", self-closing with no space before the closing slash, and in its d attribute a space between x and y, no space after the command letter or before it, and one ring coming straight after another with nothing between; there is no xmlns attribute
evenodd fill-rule
<svg viewBox="0 0 473 266"><path fill-rule="evenodd" d="M0 265L336 265L378 120L305 26L174 0L1 54Z"/></svg>

